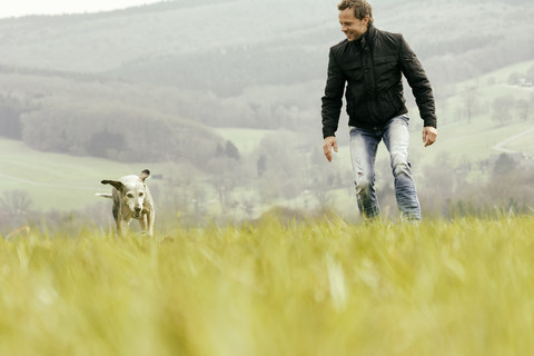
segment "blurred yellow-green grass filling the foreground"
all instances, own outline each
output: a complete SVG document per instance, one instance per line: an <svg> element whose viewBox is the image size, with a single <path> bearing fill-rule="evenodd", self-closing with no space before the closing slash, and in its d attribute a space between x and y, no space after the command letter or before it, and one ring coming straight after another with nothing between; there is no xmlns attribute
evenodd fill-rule
<svg viewBox="0 0 534 356"><path fill-rule="evenodd" d="M0 237L0 355L533 355L534 219Z"/></svg>

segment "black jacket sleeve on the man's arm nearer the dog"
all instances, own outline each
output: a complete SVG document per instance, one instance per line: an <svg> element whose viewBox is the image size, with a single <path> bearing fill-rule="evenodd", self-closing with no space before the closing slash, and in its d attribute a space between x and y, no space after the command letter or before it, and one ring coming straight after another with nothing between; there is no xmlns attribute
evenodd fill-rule
<svg viewBox="0 0 534 356"><path fill-rule="evenodd" d="M335 136L339 125L339 115L343 106L346 78L336 62L330 48L328 59L328 78L326 80L325 96L323 97L323 138Z"/></svg>

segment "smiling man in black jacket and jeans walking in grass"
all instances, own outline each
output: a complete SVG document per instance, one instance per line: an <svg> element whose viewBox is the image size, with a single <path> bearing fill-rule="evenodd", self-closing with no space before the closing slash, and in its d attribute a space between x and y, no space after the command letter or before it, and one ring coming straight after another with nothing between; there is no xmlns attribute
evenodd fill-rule
<svg viewBox="0 0 534 356"><path fill-rule="evenodd" d="M431 83L403 36L373 26L373 11L367 1L343 0L338 10L342 31L347 39L332 47L329 52L322 108L325 156L332 161L332 149L337 152L335 132L346 85L350 157L362 216L368 219L379 215L374 165L378 144L384 140L390 155L400 217L421 220L408 160L408 110L403 97L402 75L412 87L424 120L425 147L434 144L437 137Z"/></svg>

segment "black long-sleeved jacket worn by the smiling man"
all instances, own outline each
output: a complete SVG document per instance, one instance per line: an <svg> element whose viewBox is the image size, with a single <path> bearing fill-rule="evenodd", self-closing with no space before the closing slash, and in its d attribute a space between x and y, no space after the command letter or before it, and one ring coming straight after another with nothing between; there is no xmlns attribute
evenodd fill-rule
<svg viewBox="0 0 534 356"><path fill-rule="evenodd" d="M349 126L382 128L408 112L402 75L412 87L425 126L437 127L431 82L402 34L370 24L362 40L344 40L332 47L323 97L323 137L337 131L345 83Z"/></svg>

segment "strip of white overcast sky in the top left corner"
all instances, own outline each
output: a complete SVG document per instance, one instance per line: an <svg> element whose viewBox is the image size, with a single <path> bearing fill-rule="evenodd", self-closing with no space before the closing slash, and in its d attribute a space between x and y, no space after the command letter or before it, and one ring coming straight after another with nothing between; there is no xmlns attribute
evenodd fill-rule
<svg viewBox="0 0 534 356"><path fill-rule="evenodd" d="M0 18L125 9L161 0L1 0Z"/></svg>

